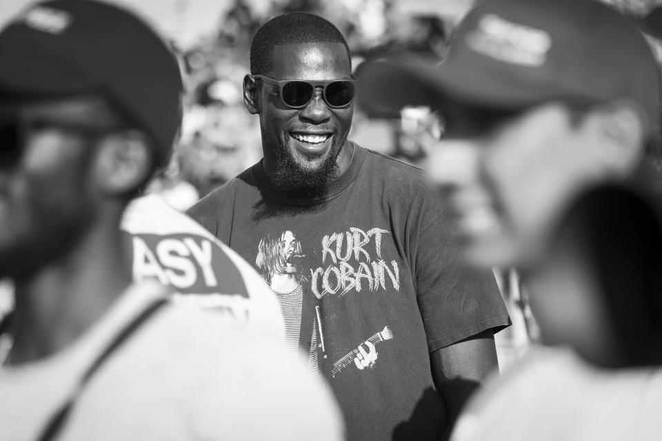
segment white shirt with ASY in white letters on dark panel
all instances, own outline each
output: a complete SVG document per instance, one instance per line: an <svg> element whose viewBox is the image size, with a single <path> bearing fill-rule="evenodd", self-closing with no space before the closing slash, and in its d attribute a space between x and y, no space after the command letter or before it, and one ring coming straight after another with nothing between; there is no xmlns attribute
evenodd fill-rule
<svg viewBox="0 0 662 441"><path fill-rule="evenodd" d="M284 336L279 303L257 271L159 196L134 199L121 229L130 234L134 280L159 280L177 291L178 303L214 307L232 321Z"/></svg>

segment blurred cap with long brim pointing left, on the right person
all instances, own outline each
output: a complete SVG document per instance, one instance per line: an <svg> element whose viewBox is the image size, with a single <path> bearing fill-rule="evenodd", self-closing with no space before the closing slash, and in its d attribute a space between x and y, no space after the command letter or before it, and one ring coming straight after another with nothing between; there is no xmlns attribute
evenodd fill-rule
<svg viewBox="0 0 662 441"><path fill-rule="evenodd" d="M658 127L659 66L643 35L593 0L485 0L460 23L443 59L373 63L370 99L425 105L445 96L504 110L568 99L627 99Z"/></svg>

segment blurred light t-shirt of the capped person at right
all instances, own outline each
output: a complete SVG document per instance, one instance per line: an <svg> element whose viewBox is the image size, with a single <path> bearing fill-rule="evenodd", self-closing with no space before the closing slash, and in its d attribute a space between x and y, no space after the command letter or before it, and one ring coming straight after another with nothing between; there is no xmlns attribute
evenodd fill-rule
<svg viewBox="0 0 662 441"><path fill-rule="evenodd" d="M452 441L659 441L662 369L597 369L569 349L534 348L492 378Z"/></svg>

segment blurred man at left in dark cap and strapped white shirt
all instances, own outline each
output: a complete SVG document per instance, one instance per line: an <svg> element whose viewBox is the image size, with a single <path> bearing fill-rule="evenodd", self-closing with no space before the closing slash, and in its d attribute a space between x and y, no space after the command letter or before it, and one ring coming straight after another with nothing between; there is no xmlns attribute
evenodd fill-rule
<svg viewBox="0 0 662 441"><path fill-rule="evenodd" d="M180 119L161 39L114 6L49 1L0 32L0 63L0 271L16 294L0 438L340 439L278 336L131 281L120 219Z"/></svg>

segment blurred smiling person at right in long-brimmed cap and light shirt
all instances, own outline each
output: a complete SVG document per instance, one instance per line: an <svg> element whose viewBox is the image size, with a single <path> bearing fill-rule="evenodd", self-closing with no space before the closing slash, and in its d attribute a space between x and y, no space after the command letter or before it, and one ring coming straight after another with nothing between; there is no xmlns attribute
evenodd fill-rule
<svg viewBox="0 0 662 441"><path fill-rule="evenodd" d="M379 87L397 81L391 104L430 105L443 118L430 167L463 258L519 269L543 342L581 356L532 351L470 405L454 438L659 437L650 413L660 397L649 386L660 382L661 293L650 267L660 249L642 246L650 233L659 247L659 225L650 205L625 203L645 207L637 194L658 141L659 67L643 36L592 0L488 0L442 63L373 68ZM636 190L625 201L616 190L586 196L578 210L601 216L581 223L571 210L555 227L579 194L608 182ZM610 207L610 197L621 200Z"/></svg>

